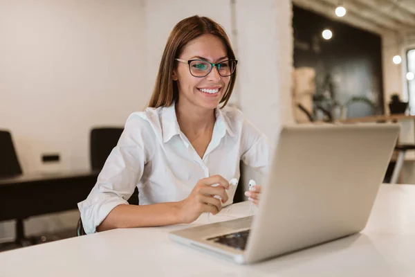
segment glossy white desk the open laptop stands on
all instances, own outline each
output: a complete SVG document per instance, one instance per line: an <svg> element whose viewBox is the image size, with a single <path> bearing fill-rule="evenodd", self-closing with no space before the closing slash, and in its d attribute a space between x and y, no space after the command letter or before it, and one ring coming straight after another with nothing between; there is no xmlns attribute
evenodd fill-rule
<svg viewBox="0 0 415 277"><path fill-rule="evenodd" d="M248 211L245 202L228 213ZM192 225L203 222L205 215ZM255 265L171 242L167 232L177 228L118 229L3 252L0 276L415 276L415 186L382 185L359 235Z"/></svg>

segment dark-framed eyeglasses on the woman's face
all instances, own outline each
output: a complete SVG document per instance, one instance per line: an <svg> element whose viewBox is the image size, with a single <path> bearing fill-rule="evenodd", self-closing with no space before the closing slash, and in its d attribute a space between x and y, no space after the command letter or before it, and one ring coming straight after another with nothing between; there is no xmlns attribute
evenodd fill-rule
<svg viewBox="0 0 415 277"><path fill-rule="evenodd" d="M183 62L185 64L189 64L189 71L194 77L205 77L207 76L212 68L216 66L218 69L219 75L222 77L228 77L235 72L237 69L237 60L226 60L223 62L219 62L218 64L212 64L212 62L208 62L205 60L182 60L182 59L174 59L178 62Z"/></svg>

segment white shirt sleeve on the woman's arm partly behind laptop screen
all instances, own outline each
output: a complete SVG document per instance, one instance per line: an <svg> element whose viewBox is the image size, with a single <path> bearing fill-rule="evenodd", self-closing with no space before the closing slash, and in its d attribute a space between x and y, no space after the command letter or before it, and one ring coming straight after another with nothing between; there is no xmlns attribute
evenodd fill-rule
<svg viewBox="0 0 415 277"><path fill-rule="evenodd" d="M265 134L248 120L243 120L241 160L265 176L269 166L269 143Z"/></svg>

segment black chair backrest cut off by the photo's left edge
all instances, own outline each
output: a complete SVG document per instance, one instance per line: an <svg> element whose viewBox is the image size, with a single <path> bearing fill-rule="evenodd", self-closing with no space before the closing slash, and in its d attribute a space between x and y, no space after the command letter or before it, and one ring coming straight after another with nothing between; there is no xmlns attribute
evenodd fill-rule
<svg viewBox="0 0 415 277"><path fill-rule="evenodd" d="M12 135L9 131L0 130L0 177L15 177L21 173Z"/></svg>

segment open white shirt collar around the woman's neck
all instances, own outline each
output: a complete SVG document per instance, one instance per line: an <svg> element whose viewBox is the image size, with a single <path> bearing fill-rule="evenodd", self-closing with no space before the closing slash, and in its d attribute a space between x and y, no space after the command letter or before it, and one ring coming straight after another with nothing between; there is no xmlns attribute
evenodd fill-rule
<svg viewBox="0 0 415 277"><path fill-rule="evenodd" d="M221 111L219 107L216 107L214 112L216 116L215 125L217 125L220 129L225 130L230 136L235 136L228 123L228 118L226 118L223 114L223 111ZM169 107L163 107L161 127L163 130L163 143L167 143L167 141L172 139L172 137L176 134L181 134L181 130L177 122L175 103Z"/></svg>

